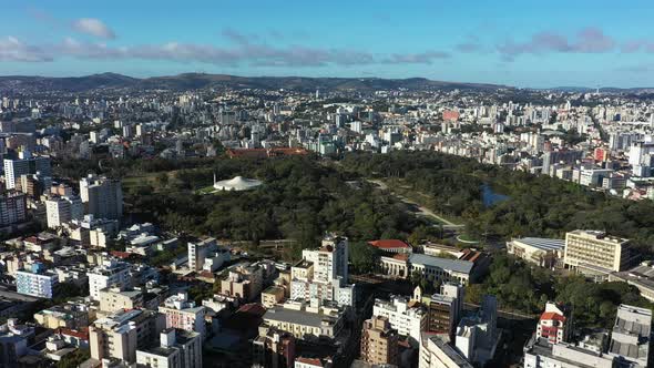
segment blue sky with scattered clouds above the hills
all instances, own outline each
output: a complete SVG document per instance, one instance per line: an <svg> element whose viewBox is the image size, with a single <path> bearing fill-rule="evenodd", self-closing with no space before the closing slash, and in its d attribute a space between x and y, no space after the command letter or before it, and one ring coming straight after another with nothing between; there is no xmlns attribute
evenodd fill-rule
<svg viewBox="0 0 654 368"><path fill-rule="evenodd" d="M654 86L654 2L12 1L0 74L425 76Z"/></svg>

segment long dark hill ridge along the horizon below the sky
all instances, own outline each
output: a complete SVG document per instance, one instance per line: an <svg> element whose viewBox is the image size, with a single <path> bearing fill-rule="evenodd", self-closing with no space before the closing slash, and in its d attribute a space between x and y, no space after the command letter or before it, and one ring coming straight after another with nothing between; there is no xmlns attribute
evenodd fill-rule
<svg viewBox="0 0 654 368"><path fill-rule="evenodd" d="M305 76L236 76L226 74L185 73L170 76L137 79L116 73L93 74L76 78L0 76L0 91L64 91L88 92L100 89L140 89L187 91L206 88L233 89L287 89L311 92L334 90L495 90L507 88L497 84L432 81L425 78L305 78Z"/></svg>

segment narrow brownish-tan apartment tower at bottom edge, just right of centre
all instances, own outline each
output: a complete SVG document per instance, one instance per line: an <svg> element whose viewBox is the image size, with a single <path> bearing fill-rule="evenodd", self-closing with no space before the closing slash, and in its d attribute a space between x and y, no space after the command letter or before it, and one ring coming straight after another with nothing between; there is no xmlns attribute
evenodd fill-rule
<svg viewBox="0 0 654 368"><path fill-rule="evenodd" d="M364 323L361 359L372 365L398 364L398 333L386 317L372 317Z"/></svg>

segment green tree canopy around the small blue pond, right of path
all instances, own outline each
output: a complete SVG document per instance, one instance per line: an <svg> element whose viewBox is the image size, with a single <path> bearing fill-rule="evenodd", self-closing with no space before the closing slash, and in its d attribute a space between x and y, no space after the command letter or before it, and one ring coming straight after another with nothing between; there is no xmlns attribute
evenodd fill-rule
<svg viewBox="0 0 654 368"><path fill-rule="evenodd" d="M654 203L629 201L545 175L509 171L437 152L352 153L345 170L367 177L399 178L425 195L422 204L466 222L472 237L562 237L576 228L627 237L651 252ZM482 185L508 196L484 206Z"/></svg>

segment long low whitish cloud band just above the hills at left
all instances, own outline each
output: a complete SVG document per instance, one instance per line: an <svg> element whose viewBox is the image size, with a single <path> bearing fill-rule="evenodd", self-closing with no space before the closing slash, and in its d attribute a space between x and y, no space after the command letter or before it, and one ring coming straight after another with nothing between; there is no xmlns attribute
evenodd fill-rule
<svg viewBox="0 0 654 368"><path fill-rule="evenodd" d="M374 54L348 49L320 49L304 45L274 47L266 43L244 43L231 47L167 42L111 47L99 42L83 42L65 38L57 44L27 45L14 38L0 39L0 61L51 61L58 58L93 60L166 60L174 62L202 62L216 65L241 64L265 67L325 67L325 65L370 65L370 64L430 64L438 59L449 58L448 53L430 51L423 53Z"/></svg>

